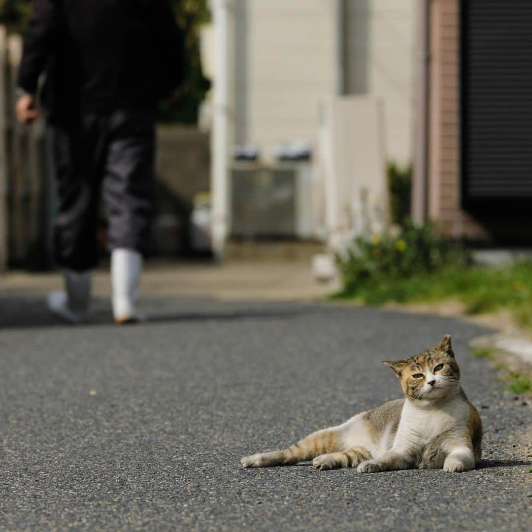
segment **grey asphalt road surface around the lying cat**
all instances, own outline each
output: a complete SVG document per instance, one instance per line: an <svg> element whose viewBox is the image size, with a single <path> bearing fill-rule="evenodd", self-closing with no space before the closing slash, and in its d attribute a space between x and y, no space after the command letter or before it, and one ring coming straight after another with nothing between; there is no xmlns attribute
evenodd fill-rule
<svg viewBox="0 0 532 532"><path fill-rule="evenodd" d="M453 320L329 305L151 301L74 328L0 298L1 530L530 530L531 412ZM381 360L453 335L480 469L360 475L243 455L401 395ZM528 445L528 447L527 447Z"/></svg>

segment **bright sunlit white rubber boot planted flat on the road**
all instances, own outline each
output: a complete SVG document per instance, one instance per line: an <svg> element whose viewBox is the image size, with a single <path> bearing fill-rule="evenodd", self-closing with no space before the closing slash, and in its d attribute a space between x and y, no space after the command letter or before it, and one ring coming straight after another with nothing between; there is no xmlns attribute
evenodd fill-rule
<svg viewBox="0 0 532 532"><path fill-rule="evenodd" d="M111 254L114 320L123 325L144 321L138 312L142 255L127 248L117 248Z"/></svg>

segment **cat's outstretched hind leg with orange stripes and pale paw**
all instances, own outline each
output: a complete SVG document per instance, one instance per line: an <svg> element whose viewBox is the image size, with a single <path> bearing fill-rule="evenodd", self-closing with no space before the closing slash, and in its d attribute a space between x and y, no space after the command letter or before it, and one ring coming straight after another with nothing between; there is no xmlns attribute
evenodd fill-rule
<svg viewBox="0 0 532 532"><path fill-rule="evenodd" d="M340 451L340 438L338 427L318 430L303 438L284 451L259 453L245 456L240 463L248 467L270 467L272 465L293 465L303 460L312 460L320 454L335 453Z"/></svg>

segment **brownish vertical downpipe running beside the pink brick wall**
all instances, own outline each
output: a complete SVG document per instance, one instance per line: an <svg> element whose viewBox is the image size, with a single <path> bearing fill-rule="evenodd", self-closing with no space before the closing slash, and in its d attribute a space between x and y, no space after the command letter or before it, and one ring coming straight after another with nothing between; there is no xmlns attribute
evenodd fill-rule
<svg viewBox="0 0 532 532"><path fill-rule="evenodd" d="M411 214L415 225L428 217L429 105L430 105L430 2L418 0L418 74L415 106L414 167Z"/></svg>

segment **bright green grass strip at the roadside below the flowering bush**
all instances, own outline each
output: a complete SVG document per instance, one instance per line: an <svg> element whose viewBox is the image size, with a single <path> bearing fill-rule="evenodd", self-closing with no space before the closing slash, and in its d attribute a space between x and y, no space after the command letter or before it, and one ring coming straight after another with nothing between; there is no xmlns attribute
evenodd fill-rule
<svg viewBox="0 0 532 532"><path fill-rule="evenodd" d="M410 277L374 277L351 282L336 298L379 305L462 302L468 313L510 310L519 325L532 327L532 261L505 267L448 268Z"/></svg>

